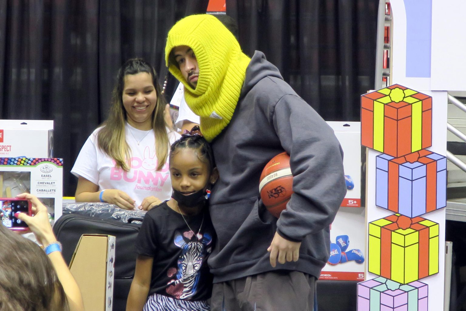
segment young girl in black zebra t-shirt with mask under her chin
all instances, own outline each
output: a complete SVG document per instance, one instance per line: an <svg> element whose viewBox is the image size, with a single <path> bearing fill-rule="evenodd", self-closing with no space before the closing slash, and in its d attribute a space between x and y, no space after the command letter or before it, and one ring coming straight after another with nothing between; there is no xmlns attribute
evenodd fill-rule
<svg viewBox="0 0 466 311"><path fill-rule="evenodd" d="M218 178L212 149L194 127L171 145L170 200L144 216L127 311L207 311L212 277L207 267L214 230L206 194Z"/></svg>

